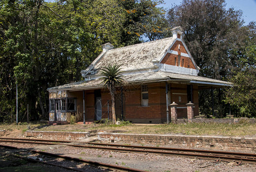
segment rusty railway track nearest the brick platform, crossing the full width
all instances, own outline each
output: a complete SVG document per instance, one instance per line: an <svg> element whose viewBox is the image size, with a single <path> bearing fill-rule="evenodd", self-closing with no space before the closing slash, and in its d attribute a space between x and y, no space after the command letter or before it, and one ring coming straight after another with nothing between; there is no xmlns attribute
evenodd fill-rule
<svg viewBox="0 0 256 172"><path fill-rule="evenodd" d="M23 140L23 141L20 141ZM17 139L17 138L0 138L0 142L18 142L18 143L34 143L34 144L60 144L73 147L98 148L103 150L126 151L126 152L142 152L156 153L164 155L183 155L187 157L210 158L210 159L226 159L247 163L256 163L256 154L238 153L230 151L214 151L214 150L196 150L187 148L167 148L167 147L148 147L148 146L132 146L123 144L106 144L106 143L90 143L77 142L86 145L70 144L75 141L70 140L43 140L43 139ZM92 145L92 146L89 146ZM97 146L95 146L97 145Z"/></svg>

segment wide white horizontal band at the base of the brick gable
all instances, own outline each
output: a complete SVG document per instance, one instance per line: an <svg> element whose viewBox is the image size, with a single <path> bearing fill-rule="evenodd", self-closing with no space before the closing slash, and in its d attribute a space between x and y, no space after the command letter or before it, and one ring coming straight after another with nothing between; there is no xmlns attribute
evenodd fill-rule
<svg viewBox="0 0 256 172"><path fill-rule="evenodd" d="M167 65L167 64L159 64L159 71L193 75L193 76L197 76L197 73L198 73L196 69L177 67L174 65Z"/></svg>

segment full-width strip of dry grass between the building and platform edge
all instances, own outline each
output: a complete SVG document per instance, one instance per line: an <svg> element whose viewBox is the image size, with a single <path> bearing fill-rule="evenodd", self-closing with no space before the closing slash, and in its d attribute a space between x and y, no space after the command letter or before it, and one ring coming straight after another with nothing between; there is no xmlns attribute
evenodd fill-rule
<svg viewBox="0 0 256 172"><path fill-rule="evenodd" d="M41 124L30 124L30 127L40 126ZM0 130L25 131L26 125L1 124ZM74 124L63 126L49 126L39 130L42 131L113 131L128 130L127 133L137 134L187 134L187 135L221 135L221 136L256 136L256 124L217 124L217 123L189 123L189 124Z"/></svg>

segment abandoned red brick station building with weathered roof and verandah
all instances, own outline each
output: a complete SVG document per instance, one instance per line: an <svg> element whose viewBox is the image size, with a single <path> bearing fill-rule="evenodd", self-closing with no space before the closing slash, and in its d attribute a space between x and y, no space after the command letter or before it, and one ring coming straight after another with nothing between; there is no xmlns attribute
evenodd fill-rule
<svg viewBox="0 0 256 172"><path fill-rule="evenodd" d="M121 64L124 84L117 88L116 115L132 123L164 123L170 119L170 103L177 103L177 118L188 118L193 103L198 115L198 89L230 86L226 81L197 76L200 70L184 41L182 29L173 37L114 48L102 46L102 53L81 71L83 81L48 88L49 121L94 121L111 116L111 97L101 84L102 67Z"/></svg>

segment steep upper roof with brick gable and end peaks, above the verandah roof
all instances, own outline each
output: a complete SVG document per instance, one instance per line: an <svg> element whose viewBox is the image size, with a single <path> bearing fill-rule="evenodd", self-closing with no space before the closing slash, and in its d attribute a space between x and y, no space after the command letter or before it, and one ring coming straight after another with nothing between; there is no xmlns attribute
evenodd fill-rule
<svg viewBox="0 0 256 172"><path fill-rule="evenodd" d="M102 67L108 67L113 64L121 66L123 75L131 75L138 71L156 72L159 70L197 75L199 68L194 62L185 43L182 41L183 33L181 27L176 27L171 30L173 32L173 37L161 40L143 42L141 44L124 46L116 49L112 49L113 46L110 43L102 45L103 52L95 58L86 70L81 71L82 76L85 77L86 80L90 80L90 77L92 77L91 79L97 78L98 71L100 71ZM177 42L179 44L177 44ZM104 48L105 46L107 48ZM182 52L180 47L182 48ZM181 61L180 57L178 65L171 64L170 62L169 64L168 62L166 63L167 60L164 58L170 58L170 54L184 56L182 58L182 65L179 65ZM183 65L185 64L185 60L186 66Z"/></svg>

